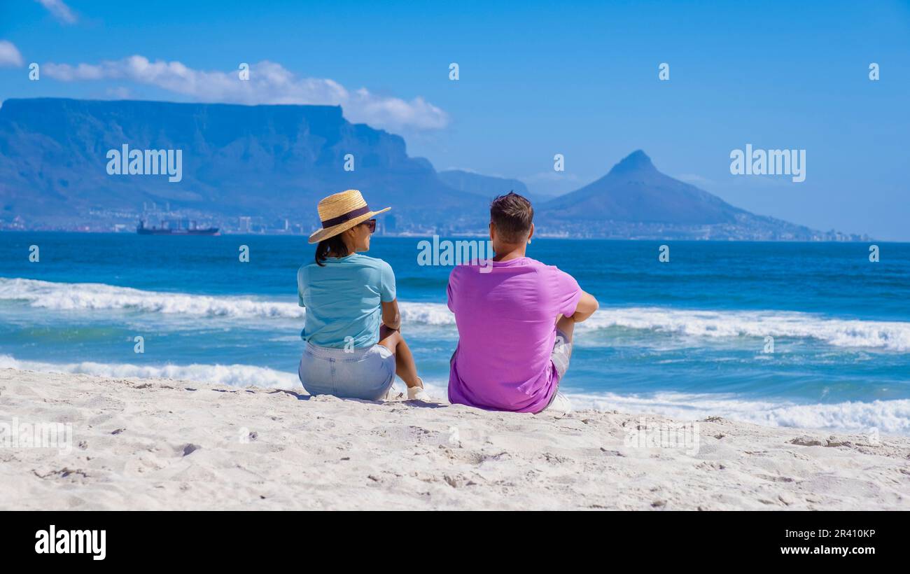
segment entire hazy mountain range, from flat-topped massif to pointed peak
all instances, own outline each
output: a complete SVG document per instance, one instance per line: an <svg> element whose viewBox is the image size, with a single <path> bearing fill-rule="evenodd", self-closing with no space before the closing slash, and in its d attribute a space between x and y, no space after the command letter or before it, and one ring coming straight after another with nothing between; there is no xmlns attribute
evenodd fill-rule
<svg viewBox="0 0 910 574"><path fill-rule="evenodd" d="M181 150L180 180L110 175L108 154L125 145ZM399 233L484 233L490 198L514 190L534 202L541 235L859 238L755 216L663 175L642 151L588 186L541 201L516 179L437 173L408 156L400 136L350 124L339 106L36 98L0 107L0 228L129 227L154 204L155 217L228 231L249 217L308 232L319 225L319 198L349 188L371 206L392 206L389 230Z"/></svg>

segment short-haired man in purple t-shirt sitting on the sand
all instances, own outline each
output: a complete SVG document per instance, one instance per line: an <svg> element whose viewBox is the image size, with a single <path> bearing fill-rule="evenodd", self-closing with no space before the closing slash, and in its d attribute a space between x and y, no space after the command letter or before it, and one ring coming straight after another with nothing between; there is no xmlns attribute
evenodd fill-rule
<svg viewBox="0 0 910 574"><path fill-rule="evenodd" d="M591 317L598 305L569 274L525 257L533 217L524 197L497 197L490 204L492 269L452 269L449 308L459 332L450 361L453 404L529 413L571 410L557 389L569 368L575 323Z"/></svg>

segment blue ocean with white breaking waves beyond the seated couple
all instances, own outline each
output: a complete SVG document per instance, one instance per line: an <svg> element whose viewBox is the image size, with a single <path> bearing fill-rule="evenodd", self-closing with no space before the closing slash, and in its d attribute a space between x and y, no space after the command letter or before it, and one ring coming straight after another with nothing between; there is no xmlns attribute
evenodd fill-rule
<svg viewBox="0 0 910 574"><path fill-rule="evenodd" d="M374 237L369 255L394 268L402 333L444 398L450 267L419 264L424 239ZM534 239L528 255L601 302L561 383L576 408L906 435L910 244L876 245L877 262L859 243ZM312 257L299 236L0 233L0 368L297 387Z"/></svg>

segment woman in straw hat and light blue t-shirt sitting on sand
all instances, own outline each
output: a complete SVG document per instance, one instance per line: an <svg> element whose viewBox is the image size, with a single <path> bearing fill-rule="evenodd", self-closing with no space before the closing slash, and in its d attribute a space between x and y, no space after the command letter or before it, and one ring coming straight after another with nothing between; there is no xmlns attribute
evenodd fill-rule
<svg viewBox="0 0 910 574"><path fill-rule="evenodd" d="M309 237L316 261L297 272L299 304L307 308L307 347L298 375L310 395L379 400L395 375L408 385L408 398L429 400L414 357L401 337L395 275L369 251L379 211L370 211L356 189L319 202L322 228Z"/></svg>

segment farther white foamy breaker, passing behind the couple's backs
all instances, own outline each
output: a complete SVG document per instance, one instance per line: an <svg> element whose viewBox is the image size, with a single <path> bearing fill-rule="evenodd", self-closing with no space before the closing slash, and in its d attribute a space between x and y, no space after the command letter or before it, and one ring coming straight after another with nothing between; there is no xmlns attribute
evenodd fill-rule
<svg viewBox="0 0 910 574"><path fill-rule="evenodd" d="M208 296L144 291L97 283L54 283L0 277L0 300L51 310L125 310L192 317L297 319L296 302L253 296ZM442 303L400 302L405 324L454 327ZM698 310L664 307L604 307L578 326L580 332L625 328L691 337L813 338L835 347L910 351L910 323L824 317L779 310Z"/></svg>

